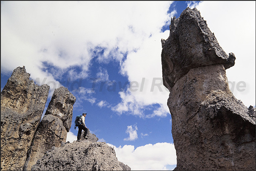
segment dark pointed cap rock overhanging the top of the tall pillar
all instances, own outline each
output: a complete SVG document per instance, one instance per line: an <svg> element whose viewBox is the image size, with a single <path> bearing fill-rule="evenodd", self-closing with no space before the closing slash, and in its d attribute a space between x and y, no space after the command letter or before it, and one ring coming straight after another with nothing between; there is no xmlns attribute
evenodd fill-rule
<svg viewBox="0 0 256 171"><path fill-rule="evenodd" d="M235 64L235 56L222 50L196 8L186 8L179 18L173 18L170 36L162 42L163 84L171 89L191 68L223 64L225 69Z"/></svg>

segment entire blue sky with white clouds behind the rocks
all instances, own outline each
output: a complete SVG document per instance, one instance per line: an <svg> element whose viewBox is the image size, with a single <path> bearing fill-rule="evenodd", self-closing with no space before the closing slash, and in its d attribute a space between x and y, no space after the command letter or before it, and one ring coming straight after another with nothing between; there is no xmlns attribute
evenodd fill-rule
<svg viewBox="0 0 256 171"><path fill-rule="evenodd" d="M172 170L176 152L169 91L162 84L161 39L171 17L196 7L226 53L230 88L255 106L255 1L1 1L1 91L25 66L36 84L76 96L76 115L132 170ZM45 113L45 111L44 111ZM74 123L68 133L76 140Z"/></svg>

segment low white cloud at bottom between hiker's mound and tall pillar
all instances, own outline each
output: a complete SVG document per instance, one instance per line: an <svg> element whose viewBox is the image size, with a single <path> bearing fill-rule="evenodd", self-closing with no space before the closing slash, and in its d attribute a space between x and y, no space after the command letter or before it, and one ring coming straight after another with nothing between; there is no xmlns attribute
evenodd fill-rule
<svg viewBox="0 0 256 171"><path fill-rule="evenodd" d="M115 149L118 161L129 165L131 170L167 170L168 165L173 165L175 168L177 164L176 151L172 143L146 144L136 149L131 145L123 147L108 145Z"/></svg>

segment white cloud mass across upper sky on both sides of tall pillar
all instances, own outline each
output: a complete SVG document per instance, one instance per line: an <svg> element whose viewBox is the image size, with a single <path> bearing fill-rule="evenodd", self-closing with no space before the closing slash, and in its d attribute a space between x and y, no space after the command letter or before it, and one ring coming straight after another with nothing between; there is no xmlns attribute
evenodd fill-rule
<svg viewBox="0 0 256 171"><path fill-rule="evenodd" d="M246 106L255 106L255 1L191 2L188 6L200 10L222 48L236 55L235 66L227 70L234 95ZM145 117L144 108L159 104L147 117L166 116L169 92L162 84L160 91L157 85L162 78L160 40L169 36L169 31L162 33L161 28L176 14L167 13L171 3L3 1L1 73L25 65L32 79L39 78L37 84L47 78L45 83L53 92L63 84L57 78L64 74L73 80L88 77L92 59L100 63L115 60L119 72L139 87L138 91L119 93L121 102L112 109ZM104 68L98 74L107 79ZM240 81L246 84L244 91L237 89ZM93 97L85 99L96 102Z"/></svg>

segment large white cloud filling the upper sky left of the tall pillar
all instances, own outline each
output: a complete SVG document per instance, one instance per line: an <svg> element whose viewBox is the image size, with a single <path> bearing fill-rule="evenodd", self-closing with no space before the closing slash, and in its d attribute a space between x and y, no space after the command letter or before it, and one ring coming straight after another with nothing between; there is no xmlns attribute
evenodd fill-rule
<svg viewBox="0 0 256 171"><path fill-rule="evenodd" d="M127 73L129 81L140 81L143 77L161 77L161 71L158 70L160 39L169 32L163 34L160 30L162 26L169 25L170 18L175 14L175 11L167 14L171 3L172 1L2 2L1 72L11 72L14 68L25 65L32 79L47 78L46 83L52 81L58 88L61 84L56 78L64 72L68 72L73 80L87 77L90 61L97 55L98 62L119 61L122 73ZM127 52L129 55L124 62L123 54ZM47 65L56 70L49 70ZM74 66L82 71L73 69ZM100 77L108 79L106 70L102 69L98 74L100 73ZM133 74L137 76L132 76ZM54 86L51 84L52 90ZM143 97L144 94L132 93L140 106L152 104L152 101L164 101L166 105L168 93L160 95L164 98L157 93ZM88 100L95 103L92 98Z"/></svg>

